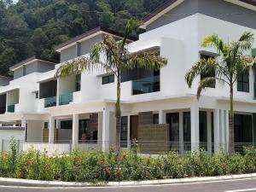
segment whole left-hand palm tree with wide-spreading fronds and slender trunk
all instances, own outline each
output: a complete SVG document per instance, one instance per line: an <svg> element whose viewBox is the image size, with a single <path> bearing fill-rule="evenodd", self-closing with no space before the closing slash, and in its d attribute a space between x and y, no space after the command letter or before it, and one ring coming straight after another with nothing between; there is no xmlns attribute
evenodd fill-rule
<svg viewBox="0 0 256 192"><path fill-rule="evenodd" d="M91 49L90 58L80 57L73 61L67 61L56 73L56 76L68 76L83 71L91 71L102 67L107 73L113 73L117 79L117 101L115 104L116 116L116 147L120 142L120 96L121 96L121 72L135 67L159 70L167 64L167 60L159 55L159 51L145 51L131 53L128 49L128 38L137 29L140 22L128 20L125 26L125 34L121 40L106 35L102 42L97 43ZM101 59L103 57L103 59Z"/></svg>

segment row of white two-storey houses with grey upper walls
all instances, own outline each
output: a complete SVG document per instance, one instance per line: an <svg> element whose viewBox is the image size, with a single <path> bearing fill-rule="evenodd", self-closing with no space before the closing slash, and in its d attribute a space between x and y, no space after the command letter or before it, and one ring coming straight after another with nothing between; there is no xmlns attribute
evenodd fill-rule
<svg viewBox="0 0 256 192"><path fill-rule="evenodd" d="M207 35L216 33L230 42L250 31L256 38L255 1L170 0L148 15L142 27L145 32L139 39L130 39L129 49L160 49L168 64L160 72L123 74L121 147L129 148L136 138L147 153L227 149L228 87L217 82L197 101L201 77L189 89L184 75L201 56L218 55L201 47ZM105 34L122 37L101 27L86 32L55 47L61 63L89 55ZM256 49L247 54L256 56ZM64 152L70 146L108 150L115 143L116 79L101 70L56 79L61 63L32 57L10 68L14 80L0 86L2 126L26 128L25 149L33 143L36 148ZM235 87L237 150L256 143L255 79L252 69Z"/></svg>

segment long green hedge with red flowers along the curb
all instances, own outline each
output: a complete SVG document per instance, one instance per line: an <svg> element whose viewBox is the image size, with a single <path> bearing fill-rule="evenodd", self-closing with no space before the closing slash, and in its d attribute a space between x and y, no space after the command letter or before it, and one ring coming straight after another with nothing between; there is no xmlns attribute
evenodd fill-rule
<svg viewBox="0 0 256 192"><path fill-rule="evenodd" d="M49 156L31 149L16 154L15 142L10 153L0 153L0 177L72 182L144 180L159 178L221 176L256 172L256 148L244 154L199 153L180 156L176 152L157 158L143 157L135 145L130 152L111 149L108 153L84 153Z"/></svg>

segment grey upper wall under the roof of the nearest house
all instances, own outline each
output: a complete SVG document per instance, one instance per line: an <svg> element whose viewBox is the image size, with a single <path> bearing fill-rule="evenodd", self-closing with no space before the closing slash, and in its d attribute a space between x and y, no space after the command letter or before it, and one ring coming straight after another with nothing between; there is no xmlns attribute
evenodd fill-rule
<svg viewBox="0 0 256 192"><path fill-rule="evenodd" d="M148 25L147 31L196 13L256 29L256 12L251 9L246 9L224 0L185 0L166 15Z"/></svg>

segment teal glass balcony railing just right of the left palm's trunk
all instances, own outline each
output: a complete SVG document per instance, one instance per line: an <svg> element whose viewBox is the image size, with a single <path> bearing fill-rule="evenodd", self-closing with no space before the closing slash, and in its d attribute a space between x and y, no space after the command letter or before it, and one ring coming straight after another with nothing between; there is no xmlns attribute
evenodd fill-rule
<svg viewBox="0 0 256 192"><path fill-rule="evenodd" d="M160 91L160 75L132 81L132 95Z"/></svg>

